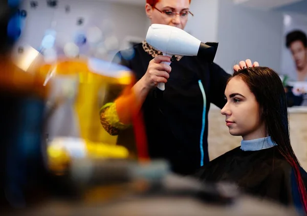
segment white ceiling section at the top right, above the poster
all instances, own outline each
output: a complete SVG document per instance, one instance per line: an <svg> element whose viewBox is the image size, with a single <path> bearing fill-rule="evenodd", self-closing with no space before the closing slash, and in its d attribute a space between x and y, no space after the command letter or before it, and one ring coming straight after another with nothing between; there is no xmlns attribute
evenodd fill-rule
<svg viewBox="0 0 307 216"><path fill-rule="evenodd" d="M233 0L233 3L252 8L273 9L301 1L303 0Z"/></svg>

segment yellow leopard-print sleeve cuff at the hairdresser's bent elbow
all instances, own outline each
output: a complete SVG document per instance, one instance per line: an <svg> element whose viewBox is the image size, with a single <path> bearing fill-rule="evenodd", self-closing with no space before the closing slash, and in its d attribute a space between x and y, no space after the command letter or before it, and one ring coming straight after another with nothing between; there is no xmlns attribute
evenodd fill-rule
<svg viewBox="0 0 307 216"><path fill-rule="evenodd" d="M130 126L119 121L114 102L107 103L101 108L100 123L105 131L112 136L118 135L121 129L126 129Z"/></svg>

